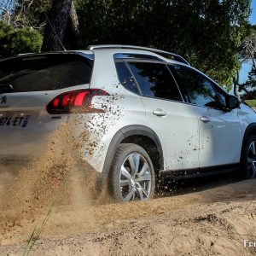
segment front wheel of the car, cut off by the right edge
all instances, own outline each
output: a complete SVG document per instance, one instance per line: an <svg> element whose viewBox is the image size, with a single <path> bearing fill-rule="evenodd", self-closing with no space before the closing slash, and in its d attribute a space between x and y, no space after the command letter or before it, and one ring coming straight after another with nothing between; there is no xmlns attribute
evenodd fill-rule
<svg viewBox="0 0 256 256"><path fill-rule="evenodd" d="M241 156L242 176L249 179L256 177L256 136L247 137Z"/></svg>

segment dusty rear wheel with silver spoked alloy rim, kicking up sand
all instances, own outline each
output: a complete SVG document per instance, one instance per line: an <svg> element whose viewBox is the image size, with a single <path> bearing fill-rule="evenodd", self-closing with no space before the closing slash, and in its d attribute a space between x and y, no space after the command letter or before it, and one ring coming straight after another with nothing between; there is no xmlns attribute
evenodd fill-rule
<svg viewBox="0 0 256 256"><path fill-rule="evenodd" d="M116 149L109 176L114 201L146 201L153 198L154 166L137 144L123 143Z"/></svg>

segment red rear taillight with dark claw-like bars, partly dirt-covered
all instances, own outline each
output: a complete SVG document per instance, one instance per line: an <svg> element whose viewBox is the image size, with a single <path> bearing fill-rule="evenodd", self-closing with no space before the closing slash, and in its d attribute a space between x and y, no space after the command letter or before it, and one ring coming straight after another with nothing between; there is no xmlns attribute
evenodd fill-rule
<svg viewBox="0 0 256 256"><path fill-rule="evenodd" d="M67 91L56 96L46 106L51 114L58 113L103 113L103 109L93 108L91 101L94 96L108 96L108 92L101 89L85 89Z"/></svg>

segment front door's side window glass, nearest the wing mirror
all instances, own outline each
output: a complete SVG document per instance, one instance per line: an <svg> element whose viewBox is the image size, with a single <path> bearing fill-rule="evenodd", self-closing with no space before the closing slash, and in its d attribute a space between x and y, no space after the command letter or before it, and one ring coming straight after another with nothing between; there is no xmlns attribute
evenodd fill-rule
<svg viewBox="0 0 256 256"><path fill-rule="evenodd" d="M172 70L177 73L191 103L212 108L221 107L211 80L189 67L172 65Z"/></svg>

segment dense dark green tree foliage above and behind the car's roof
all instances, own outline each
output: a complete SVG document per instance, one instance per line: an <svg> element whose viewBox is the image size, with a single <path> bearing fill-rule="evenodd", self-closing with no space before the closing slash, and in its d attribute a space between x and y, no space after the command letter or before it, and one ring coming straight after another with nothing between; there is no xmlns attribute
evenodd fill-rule
<svg viewBox="0 0 256 256"><path fill-rule="evenodd" d="M137 44L166 49L222 84L239 68L250 0L78 0L88 44Z"/></svg>

